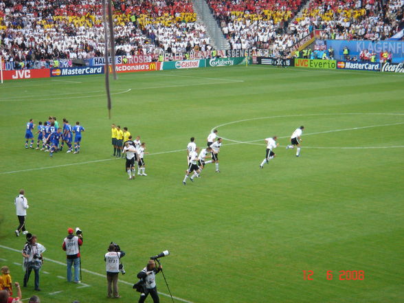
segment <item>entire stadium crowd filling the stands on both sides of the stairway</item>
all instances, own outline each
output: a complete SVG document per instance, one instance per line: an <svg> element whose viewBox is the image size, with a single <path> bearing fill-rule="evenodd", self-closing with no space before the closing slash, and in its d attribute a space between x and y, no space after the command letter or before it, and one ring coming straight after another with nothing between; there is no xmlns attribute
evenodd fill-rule
<svg viewBox="0 0 404 303"><path fill-rule="evenodd" d="M288 54L304 36L381 40L403 28L403 0L207 0L232 49ZM212 51L190 0L114 1L116 55ZM96 0L0 0L0 56L16 69L103 56Z"/></svg>

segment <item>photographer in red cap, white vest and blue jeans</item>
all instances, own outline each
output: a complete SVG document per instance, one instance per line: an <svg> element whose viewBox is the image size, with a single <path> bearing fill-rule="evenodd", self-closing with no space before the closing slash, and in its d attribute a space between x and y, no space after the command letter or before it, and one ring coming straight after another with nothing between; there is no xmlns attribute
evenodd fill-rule
<svg viewBox="0 0 404 303"><path fill-rule="evenodd" d="M82 232L80 228L76 228L76 236L74 236L72 228L67 229L69 234L63 240L62 249L66 251L67 262L67 282L71 282L71 266L74 265L74 283L80 283L80 246L82 245Z"/></svg>

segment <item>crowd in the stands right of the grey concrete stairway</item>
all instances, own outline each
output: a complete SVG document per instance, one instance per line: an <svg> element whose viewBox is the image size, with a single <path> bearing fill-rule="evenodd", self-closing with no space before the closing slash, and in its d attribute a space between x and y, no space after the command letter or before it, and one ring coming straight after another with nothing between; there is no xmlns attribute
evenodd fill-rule
<svg viewBox="0 0 404 303"><path fill-rule="evenodd" d="M208 0L232 49L270 49L273 56L313 30L323 39L382 40L403 27L403 0Z"/></svg>

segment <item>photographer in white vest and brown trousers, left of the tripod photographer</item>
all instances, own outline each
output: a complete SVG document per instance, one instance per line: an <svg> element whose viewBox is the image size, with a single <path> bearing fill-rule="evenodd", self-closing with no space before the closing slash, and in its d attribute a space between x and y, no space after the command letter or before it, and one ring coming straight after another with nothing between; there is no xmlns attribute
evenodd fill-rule
<svg viewBox="0 0 404 303"><path fill-rule="evenodd" d="M105 254L106 265L106 280L108 281L108 298L120 298L117 287L118 273L125 274L124 266L120 264L120 260L125 256L125 252L120 249L120 246L111 242L108 247L108 252ZM112 290L113 287L113 290Z"/></svg>

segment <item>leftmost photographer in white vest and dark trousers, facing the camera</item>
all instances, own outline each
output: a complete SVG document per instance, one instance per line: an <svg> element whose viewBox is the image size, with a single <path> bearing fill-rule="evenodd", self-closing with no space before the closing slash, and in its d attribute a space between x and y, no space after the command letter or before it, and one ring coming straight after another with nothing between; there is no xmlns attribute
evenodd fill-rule
<svg viewBox="0 0 404 303"><path fill-rule="evenodd" d="M25 270L24 284L23 287L27 287L27 282L30 280L30 274L32 269L35 273L35 290L41 291L39 289L39 270L43 265L43 252L46 250L45 247L37 243L37 238L35 235L27 234L27 243L23 248L23 268Z"/></svg>

